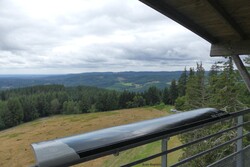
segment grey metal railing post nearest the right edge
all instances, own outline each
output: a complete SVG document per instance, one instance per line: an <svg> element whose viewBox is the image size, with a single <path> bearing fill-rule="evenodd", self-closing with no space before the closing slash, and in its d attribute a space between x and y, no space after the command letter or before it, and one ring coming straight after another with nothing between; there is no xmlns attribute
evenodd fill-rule
<svg viewBox="0 0 250 167"><path fill-rule="evenodd" d="M243 123L243 115L238 116L238 125ZM237 137L241 137L243 135L243 127L240 126L237 128ZM237 140L237 151L242 151L242 138ZM242 152L238 153L236 157L236 166L243 167L243 156Z"/></svg>

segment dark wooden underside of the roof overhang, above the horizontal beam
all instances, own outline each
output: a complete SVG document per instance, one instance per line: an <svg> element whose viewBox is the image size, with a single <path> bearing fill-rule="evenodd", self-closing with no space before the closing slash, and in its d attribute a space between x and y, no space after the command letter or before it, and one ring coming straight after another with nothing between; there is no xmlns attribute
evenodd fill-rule
<svg viewBox="0 0 250 167"><path fill-rule="evenodd" d="M140 1L175 20L212 44L250 40L249 0Z"/></svg>

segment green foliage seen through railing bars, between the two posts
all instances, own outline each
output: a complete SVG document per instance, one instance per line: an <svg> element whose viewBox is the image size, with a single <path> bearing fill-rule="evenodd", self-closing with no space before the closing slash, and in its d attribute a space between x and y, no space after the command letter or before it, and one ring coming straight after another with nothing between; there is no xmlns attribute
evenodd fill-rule
<svg viewBox="0 0 250 167"><path fill-rule="evenodd" d="M223 123L217 123L215 125L211 125L206 128L201 128L194 130L192 132L188 132L185 134L182 134L180 139L182 143L188 143L190 141L202 138L204 136L208 136L211 134L214 134L215 132L218 132L219 130L223 128L229 128L230 122L223 122ZM231 124L232 125L232 124ZM197 144L185 147L183 149L184 153L182 155L181 159L185 159L187 157L190 157L192 155L195 155L197 153L203 152L205 150L211 149L219 144L224 143L225 141L228 141L235 137L235 133L232 131L229 131L227 133L224 133L221 136L212 137L208 140L201 141ZM204 167L208 166L209 164L222 159L223 157L231 154L234 150L234 145L226 145L224 147L221 147L215 151L212 151L210 153L207 153L201 157L198 157L192 161L189 161L188 163L185 163L184 166L197 166L197 167Z"/></svg>

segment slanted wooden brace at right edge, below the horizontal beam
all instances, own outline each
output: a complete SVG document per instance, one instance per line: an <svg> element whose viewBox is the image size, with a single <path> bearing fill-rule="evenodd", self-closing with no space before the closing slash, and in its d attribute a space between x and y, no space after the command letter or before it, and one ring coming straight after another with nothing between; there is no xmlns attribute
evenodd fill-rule
<svg viewBox="0 0 250 167"><path fill-rule="evenodd" d="M246 84L246 86L248 88L248 91L250 92L250 75L249 75L246 67L242 63L239 55L233 55L232 58L233 58L234 63L237 66L237 68L238 68L238 70L240 72L240 75L241 75L242 79L244 80L244 82L245 82L245 84Z"/></svg>

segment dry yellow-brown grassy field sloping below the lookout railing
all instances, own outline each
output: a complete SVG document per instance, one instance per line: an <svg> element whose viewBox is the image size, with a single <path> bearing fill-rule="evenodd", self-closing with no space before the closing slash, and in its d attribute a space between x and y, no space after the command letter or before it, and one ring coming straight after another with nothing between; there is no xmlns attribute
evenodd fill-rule
<svg viewBox="0 0 250 167"><path fill-rule="evenodd" d="M165 116L170 114L168 112L170 108L170 106L159 105L101 113L53 116L0 131L0 166L20 167L34 164L35 159L30 147L31 143ZM180 141L177 137L174 137L171 138L169 147L178 144L180 144ZM124 151L119 156L110 155L76 166L118 166L159 151L160 142L155 142ZM177 161L180 155L181 151L170 154L169 162ZM145 164L147 163L159 164L160 158L145 162Z"/></svg>

